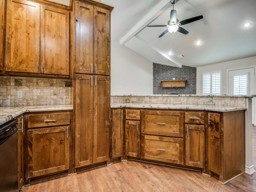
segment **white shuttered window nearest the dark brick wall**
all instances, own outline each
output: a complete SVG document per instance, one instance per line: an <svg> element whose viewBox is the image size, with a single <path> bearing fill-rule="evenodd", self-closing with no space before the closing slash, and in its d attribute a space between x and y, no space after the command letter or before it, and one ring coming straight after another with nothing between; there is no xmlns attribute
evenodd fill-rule
<svg viewBox="0 0 256 192"><path fill-rule="evenodd" d="M203 94L221 94L221 71L203 73Z"/></svg>

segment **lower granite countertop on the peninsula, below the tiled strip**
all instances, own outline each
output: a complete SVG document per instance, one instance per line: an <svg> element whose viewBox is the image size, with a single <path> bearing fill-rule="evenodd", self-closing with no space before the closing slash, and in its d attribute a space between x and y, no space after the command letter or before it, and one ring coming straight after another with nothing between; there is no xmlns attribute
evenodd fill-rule
<svg viewBox="0 0 256 192"><path fill-rule="evenodd" d="M150 108L150 109L177 109L177 110L207 110L216 112L229 112L246 110L246 107L236 106L211 106L211 105L188 105L188 104L139 104L139 103L112 103L111 108Z"/></svg>

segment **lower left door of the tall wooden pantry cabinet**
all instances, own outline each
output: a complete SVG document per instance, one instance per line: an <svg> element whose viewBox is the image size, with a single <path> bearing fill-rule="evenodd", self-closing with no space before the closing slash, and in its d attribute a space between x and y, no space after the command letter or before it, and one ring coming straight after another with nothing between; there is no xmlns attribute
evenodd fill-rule
<svg viewBox="0 0 256 192"><path fill-rule="evenodd" d="M75 165L92 164L93 81L91 75L76 75L75 84Z"/></svg>

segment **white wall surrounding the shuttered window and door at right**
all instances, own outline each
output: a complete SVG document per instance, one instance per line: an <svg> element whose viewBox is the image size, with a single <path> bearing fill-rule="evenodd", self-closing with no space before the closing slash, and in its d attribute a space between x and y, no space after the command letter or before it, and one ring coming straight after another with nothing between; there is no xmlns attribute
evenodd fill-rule
<svg viewBox="0 0 256 192"><path fill-rule="evenodd" d="M196 94L202 94L203 72L222 70L222 94L227 94L227 70L247 66L256 66L256 56L196 68Z"/></svg>

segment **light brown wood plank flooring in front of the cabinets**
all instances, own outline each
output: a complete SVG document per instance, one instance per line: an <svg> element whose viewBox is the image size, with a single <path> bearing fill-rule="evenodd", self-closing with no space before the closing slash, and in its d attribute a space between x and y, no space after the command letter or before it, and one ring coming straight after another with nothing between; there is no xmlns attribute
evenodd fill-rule
<svg viewBox="0 0 256 192"><path fill-rule="evenodd" d="M256 126L253 129L256 169ZM22 192L256 192L256 173L226 185L200 172L127 161L23 187Z"/></svg>

